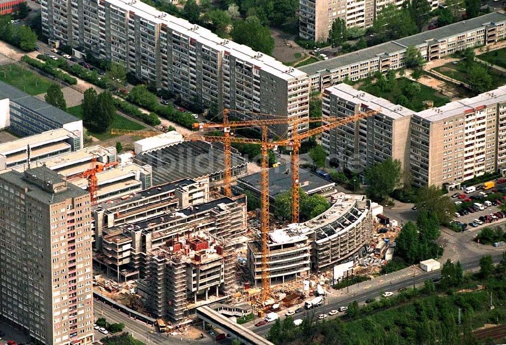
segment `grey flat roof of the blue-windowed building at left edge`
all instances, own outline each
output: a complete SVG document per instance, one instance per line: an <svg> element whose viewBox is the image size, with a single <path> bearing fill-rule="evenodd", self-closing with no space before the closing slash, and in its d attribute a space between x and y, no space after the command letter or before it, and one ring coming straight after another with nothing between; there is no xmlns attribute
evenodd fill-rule
<svg viewBox="0 0 506 345"><path fill-rule="evenodd" d="M35 111L39 115L53 120L59 124L81 120L80 118L77 118L74 115L70 115L60 108L52 106L51 104L41 101L38 98L30 96L26 92L21 91L6 82L0 81L0 99L6 98L9 98L11 101L14 101L32 111Z"/></svg>

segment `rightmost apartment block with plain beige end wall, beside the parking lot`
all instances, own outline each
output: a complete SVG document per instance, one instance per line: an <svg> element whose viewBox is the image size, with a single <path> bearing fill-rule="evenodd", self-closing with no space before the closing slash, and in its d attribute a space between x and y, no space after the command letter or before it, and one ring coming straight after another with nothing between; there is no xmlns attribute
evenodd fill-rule
<svg viewBox="0 0 506 345"><path fill-rule="evenodd" d="M410 167L416 185L453 186L506 172L506 87L413 115Z"/></svg>

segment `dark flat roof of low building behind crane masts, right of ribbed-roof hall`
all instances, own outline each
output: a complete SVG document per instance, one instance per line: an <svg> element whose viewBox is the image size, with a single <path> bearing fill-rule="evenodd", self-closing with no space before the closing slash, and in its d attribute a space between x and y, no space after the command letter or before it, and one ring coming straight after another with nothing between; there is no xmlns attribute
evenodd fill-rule
<svg viewBox="0 0 506 345"><path fill-rule="evenodd" d="M239 178L238 181L244 183L249 188L259 191L260 172ZM308 194L335 186L335 183L325 180L301 167L299 167L299 181L301 188ZM291 170L289 164L283 164L269 169L269 196L271 198L275 198L276 195L289 191L290 188Z"/></svg>

